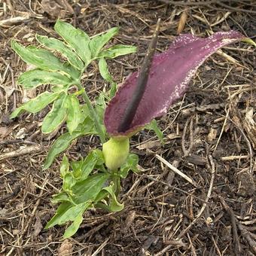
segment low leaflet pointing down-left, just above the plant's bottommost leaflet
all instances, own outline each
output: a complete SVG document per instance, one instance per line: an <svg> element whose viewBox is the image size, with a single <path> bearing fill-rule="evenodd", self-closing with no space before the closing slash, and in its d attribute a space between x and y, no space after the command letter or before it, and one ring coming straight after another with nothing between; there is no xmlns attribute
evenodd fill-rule
<svg viewBox="0 0 256 256"><path fill-rule="evenodd" d="M53 227L56 224L62 225L68 221L75 221L78 215L82 215L84 211L90 206L90 202L80 203L77 206L70 207L70 203L62 203L57 209L56 215L50 219L45 228ZM66 206L66 209L65 209ZM67 207L68 206L68 207Z"/></svg>

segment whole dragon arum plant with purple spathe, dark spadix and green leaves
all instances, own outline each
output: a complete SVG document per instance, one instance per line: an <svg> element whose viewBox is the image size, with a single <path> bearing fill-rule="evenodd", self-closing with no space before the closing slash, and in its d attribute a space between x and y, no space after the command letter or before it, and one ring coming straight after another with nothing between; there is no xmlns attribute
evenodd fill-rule
<svg viewBox="0 0 256 256"><path fill-rule="evenodd" d="M53 143L44 169L79 136L96 135L102 142L102 151L96 148L84 159L69 162L66 155L62 159L59 168L62 189L52 200L59 203L59 207L46 228L72 222L64 233L66 238L76 233L87 209L100 207L110 212L123 209L123 204L117 200L120 179L126 178L130 170L136 172L138 163L138 156L130 154L130 137L145 127L160 136L154 118L165 114L169 105L184 94L190 78L203 61L227 44L252 41L235 31L216 32L208 38L180 35L169 49L154 54L156 31L142 68L126 78L115 93L117 84L108 72L105 59L133 53L136 47L104 47L117 35L117 28L89 37L69 23L57 21L55 30L64 42L37 36L44 47L41 48L23 47L12 41L12 47L21 58L35 66L20 75L18 83L26 89L41 84L53 84L53 87L50 92L45 91L17 108L11 117L17 117L22 111L36 113L53 103L42 122L42 132L52 133L66 121L68 132ZM64 62L53 54L55 51L62 54ZM99 93L94 104L81 82L92 61L98 62L100 75L111 84L110 90ZM81 99L85 103L81 103Z"/></svg>

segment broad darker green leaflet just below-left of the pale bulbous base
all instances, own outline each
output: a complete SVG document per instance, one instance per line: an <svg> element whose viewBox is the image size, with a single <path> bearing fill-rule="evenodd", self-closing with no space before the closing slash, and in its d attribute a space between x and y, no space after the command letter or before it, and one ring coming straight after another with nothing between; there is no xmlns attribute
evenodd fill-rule
<svg viewBox="0 0 256 256"><path fill-rule="evenodd" d="M97 173L90 175L84 181L77 182L72 187L72 192L75 195L74 201L76 203L84 203L88 200L94 200L108 178L108 173Z"/></svg>

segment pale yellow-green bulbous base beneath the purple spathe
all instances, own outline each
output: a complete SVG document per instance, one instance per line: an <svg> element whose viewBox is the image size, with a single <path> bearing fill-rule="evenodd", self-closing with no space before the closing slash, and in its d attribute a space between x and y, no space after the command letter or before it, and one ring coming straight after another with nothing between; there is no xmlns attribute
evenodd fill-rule
<svg viewBox="0 0 256 256"><path fill-rule="evenodd" d="M117 170L125 163L129 154L130 143L129 139L111 138L102 146L102 152L105 158L105 165L110 170Z"/></svg>

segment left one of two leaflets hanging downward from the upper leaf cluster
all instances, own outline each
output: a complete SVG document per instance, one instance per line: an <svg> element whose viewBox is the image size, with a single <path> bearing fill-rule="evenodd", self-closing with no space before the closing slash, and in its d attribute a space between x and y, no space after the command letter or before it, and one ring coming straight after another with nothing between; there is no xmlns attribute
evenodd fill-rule
<svg viewBox="0 0 256 256"><path fill-rule="evenodd" d="M53 103L53 108L44 117L41 126L42 133L51 133L66 119L66 93L62 93L58 99Z"/></svg>

